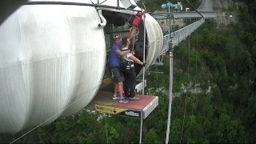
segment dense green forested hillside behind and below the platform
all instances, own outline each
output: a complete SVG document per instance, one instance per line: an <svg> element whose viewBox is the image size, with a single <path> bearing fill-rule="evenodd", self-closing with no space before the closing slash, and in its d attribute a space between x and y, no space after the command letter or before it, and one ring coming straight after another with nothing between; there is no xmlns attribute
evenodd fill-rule
<svg viewBox="0 0 256 144"><path fill-rule="evenodd" d="M146 2L161 5L166 1ZM206 19L186 41L174 47L171 143L256 143L256 2L238 2L243 3L238 6L238 23L217 29L214 19ZM159 105L143 121L143 143L166 140L168 54L164 66L154 70L164 74L146 76L146 93L158 95ZM163 90L157 90L159 87ZM138 119L102 117L82 110L74 117L42 126L17 142L138 143L139 129ZM1 134L0 143L12 142L27 131Z"/></svg>

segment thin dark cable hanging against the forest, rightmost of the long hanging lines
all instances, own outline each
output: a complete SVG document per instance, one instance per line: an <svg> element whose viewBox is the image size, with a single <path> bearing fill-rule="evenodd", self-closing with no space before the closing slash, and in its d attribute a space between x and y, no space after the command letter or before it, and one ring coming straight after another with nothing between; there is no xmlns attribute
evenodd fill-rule
<svg viewBox="0 0 256 144"><path fill-rule="evenodd" d="M191 23L191 19L190 19ZM186 117L186 101L187 101L187 86L189 85L190 82L190 38L189 38L189 63L188 63L188 68L187 68L187 82L186 82L186 100L185 100L185 108L184 108L184 114L183 114L183 122L182 122L182 134L183 134L183 129L184 129L184 122L185 122L185 117ZM182 143L182 134L179 143Z"/></svg>

